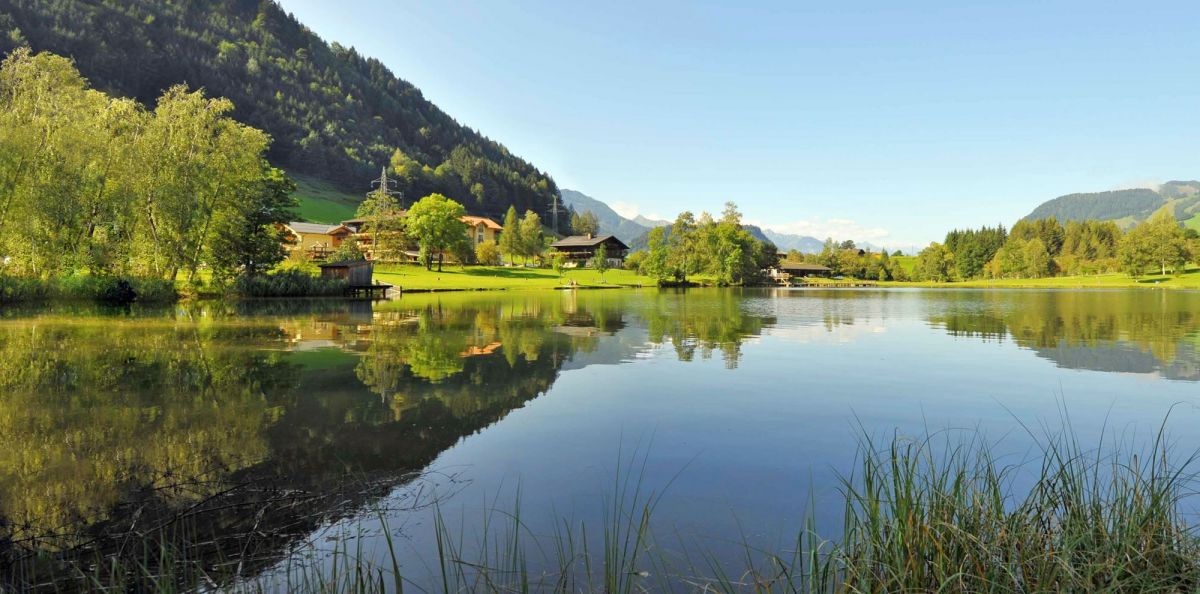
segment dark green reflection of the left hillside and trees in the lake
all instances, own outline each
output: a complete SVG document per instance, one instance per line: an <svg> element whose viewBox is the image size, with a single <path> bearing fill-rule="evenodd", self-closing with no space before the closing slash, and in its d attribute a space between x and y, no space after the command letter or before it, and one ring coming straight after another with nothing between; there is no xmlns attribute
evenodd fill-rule
<svg viewBox="0 0 1200 594"><path fill-rule="evenodd" d="M617 292L6 318L0 547L14 586L55 571L44 553L95 560L133 535L252 570L546 392L626 319L682 359L731 366L763 324L733 295Z"/></svg>

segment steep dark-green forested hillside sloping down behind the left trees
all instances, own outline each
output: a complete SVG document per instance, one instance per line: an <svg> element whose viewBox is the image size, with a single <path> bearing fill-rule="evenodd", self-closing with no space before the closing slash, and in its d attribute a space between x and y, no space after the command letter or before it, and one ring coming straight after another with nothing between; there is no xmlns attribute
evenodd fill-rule
<svg viewBox="0 0 1200 594"><path fill-rule="evenodd" d="M72 58L98 89L152 106L174 84L233 101L269 132L278 167L365 192L397 168L406 203L546 212L554 181L353 48L325 43L274 0L0 0L0 52Z"/></svg>

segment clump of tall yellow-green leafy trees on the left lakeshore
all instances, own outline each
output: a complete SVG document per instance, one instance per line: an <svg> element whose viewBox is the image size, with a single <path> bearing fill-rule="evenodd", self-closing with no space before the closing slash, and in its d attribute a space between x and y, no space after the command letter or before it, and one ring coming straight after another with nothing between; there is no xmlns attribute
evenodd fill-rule
<svg viewBox="0 0 1200 594"><path fill-rule="evenodd" d="M282 260L295 205L265 133L233 104L173 86L154 109L89 89L73 64L14 50L0 66L0 276L6 300L83 284L227 284ZM46 289L29 287L46 286ZM20 287L25 287L22 289ZM161 295L155 288L151 293ZM144 295L143 295L144 296Z"/></svg>

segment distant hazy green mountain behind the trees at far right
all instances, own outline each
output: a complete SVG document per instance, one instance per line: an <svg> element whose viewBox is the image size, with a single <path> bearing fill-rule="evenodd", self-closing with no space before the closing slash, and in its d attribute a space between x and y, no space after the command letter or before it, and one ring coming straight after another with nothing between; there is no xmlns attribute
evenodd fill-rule
<svg viewBox="0 0 1200 594"><path fill-rule="evenodd" d="M1027 221L1056 217L1066 221L1115 221L1122 228L1138 224L1160 209L1170 208L1175 217L1200 227L1200 181L1168 181L1156 190L1139 187L1060 196L1033 209Z"/></svg>

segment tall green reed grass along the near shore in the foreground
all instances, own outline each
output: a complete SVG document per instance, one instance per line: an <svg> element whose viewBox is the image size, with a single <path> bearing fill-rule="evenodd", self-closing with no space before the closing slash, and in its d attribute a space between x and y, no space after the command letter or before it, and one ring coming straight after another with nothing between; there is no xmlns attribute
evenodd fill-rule
<svg viewBox="0 0 1200 594"><path fill-rule="evenodd" d="M841 480L838 539L810 517L786 551L743 540L738 559L702 544L659 546L652 526L662 491L646 488L644 456L618 469L602 526L559 521L535 535L520 494L509 511L454 527L436 514L433 583L406 575L386 517L386 556L342 545L334 562L290 566L200 588L242 592L608 593L1031 593L1200 589L1200 542L1186 516L1195 455L1177 456L1160 430L1151 443L1084 448L1042 434L1031 462L1006 462L977 437L864 438ZM352 539L353 540L353 539ZM354 540L361 546L362 540ZM737 568L731 570L730 568ZM278 577L286 576L284 578ZM139 586L178 582L137 581ZM152 589L152 588L151 588Z"/></svg>

